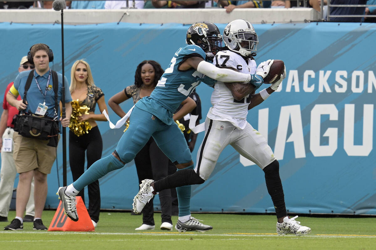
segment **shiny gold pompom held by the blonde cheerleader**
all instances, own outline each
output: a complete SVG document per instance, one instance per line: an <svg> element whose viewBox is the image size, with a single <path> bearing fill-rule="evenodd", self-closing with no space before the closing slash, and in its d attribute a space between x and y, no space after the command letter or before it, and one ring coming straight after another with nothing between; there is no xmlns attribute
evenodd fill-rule
<svg viewBox="0 0 376 250"><path fill-rule="evenodd" d="M71 101L72 114L69 122L69 129L77 136L85 135L89 133L91 125L88 121L79 121L77 118L81 115L88 115L88 106L80 106L78 99Z"/></svg>

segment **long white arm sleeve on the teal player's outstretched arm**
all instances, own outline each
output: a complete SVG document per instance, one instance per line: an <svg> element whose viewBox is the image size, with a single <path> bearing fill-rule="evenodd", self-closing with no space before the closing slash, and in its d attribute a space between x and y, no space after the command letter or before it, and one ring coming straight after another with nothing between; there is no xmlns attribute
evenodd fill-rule
<svg viewBox="0 0 376 250"><path fill-rule="evenodd" d="M201 61L197 65L197 71L221 82L249 82L252 79L250 74L236 72L232 69L221 69L207 61Z"/></svg>

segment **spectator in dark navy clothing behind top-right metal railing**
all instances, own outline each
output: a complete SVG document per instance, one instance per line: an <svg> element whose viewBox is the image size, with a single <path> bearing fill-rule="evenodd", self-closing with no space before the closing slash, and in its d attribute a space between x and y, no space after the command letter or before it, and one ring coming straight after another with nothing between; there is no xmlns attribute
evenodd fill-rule
<svg viewBox="0 0 376 250"><path fill-rule="evenodd" d="M367 0L331 0L331 4L367 4ZM330 15L364 15L365 7L330 7ZM363 17L331 17L331 22L361 22Z"/></svg>

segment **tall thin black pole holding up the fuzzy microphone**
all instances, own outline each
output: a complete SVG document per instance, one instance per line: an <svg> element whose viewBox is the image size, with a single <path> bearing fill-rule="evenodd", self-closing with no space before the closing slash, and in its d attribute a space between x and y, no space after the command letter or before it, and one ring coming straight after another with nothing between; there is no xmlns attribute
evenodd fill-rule
<svg viewBox="0 0 376 250"><path fill-rule="evenodd" d="M61 88L61 117L65 118L65 77L64 77L64 21L63 21L63 10L61 10L61 67L62 67L62 88ZM63 187L67 186L67 138L65 127L63 129Z"/></svg>

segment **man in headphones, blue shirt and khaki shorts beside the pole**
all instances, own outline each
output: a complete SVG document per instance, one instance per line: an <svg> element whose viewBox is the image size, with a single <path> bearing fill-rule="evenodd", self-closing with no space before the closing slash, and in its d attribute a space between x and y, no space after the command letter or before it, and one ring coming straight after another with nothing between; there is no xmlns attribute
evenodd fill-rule
<svg viewBox="0 0 376 250"><path fill-rule="evenodd" d="M27 91L26 104L23 100L17 100L17 96L24 96L24 90L30 71L24 71L18 74L13 86L6 96L10 105L18 110L24 110L29 114L35 114L38 106L44 107L38 114L45 117L54 118L55 116L55 93L53 89L52 70L49 62L53 60L53 53L49 46L43 43L37 43L30 48L28 60L35 65L33 78L29 90ZM62 75L58 74L58 103L62 99ZM67 78L65 81L65 102L66 118L60 119L60 124L68 127L72 112L72 97L68 88ZM56 83L55 83L56 84ZM60 117L60 108L57 107L57 116ZM60 126L59 124L59 126ZM61 131L61 130L60 130ZM34 177L34 204L35 218L33 229L47 230L42 222L42 211L47 197L47 174L51 172L53 162L56 159L55 147L49 146L50 141L39 140L36 138L27 138L14 133L14 153L17 172L20 174L17 196L16 196L16 217L11 224L4 230L22 230L22 216L25 211L26 203L30 195L30 184ZM56 144L57 147L57 144Z"/></svg>

